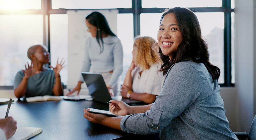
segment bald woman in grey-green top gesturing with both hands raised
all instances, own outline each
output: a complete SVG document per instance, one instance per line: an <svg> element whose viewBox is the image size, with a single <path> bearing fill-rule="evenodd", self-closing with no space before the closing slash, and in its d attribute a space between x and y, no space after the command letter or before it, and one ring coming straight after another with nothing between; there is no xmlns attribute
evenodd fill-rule
<svg viewBox="0 0 256 140"><path fill-rule="evenodd" d="M33 45L28 49L31 64L25 64L25 70L19 71L14 80L14 94L17 98L44 95L62 95L60 70L64 67L62 60L57 60L53 70L43 67L50 63L50 53L44 45Z"/></svg>

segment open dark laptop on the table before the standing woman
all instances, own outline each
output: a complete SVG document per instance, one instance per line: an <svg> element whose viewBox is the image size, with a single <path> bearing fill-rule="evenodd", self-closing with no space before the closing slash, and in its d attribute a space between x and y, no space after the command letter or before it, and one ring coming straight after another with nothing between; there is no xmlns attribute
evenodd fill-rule
<svg viewBox="0 0 256 140"><path fill-rule="evenodd" d="M109 100L122 100L126 104L142 103L142 101L122 98L121 96L111 97L101 74L87 72L82 72L81 74L94 101L106 104Z"/></svg>

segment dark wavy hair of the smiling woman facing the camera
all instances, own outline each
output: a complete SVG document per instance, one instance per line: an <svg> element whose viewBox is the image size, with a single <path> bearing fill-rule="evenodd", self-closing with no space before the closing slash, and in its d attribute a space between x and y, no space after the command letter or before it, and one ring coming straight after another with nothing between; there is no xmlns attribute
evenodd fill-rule
<svg viewBox="0 0 256 140"><path fill-rule="evenodd" d="M162 59L162 66L159 71L167 73L169 68L185 58L192 59L196 63L204 63L208 72L212 75L212 82L220 77L220 69L209 62L209 52L207 51L207 43L202 39L201 29L198 19L194 12L188 8L175 7L166 9L160 19L160 24L164 16L168 13L174 13L178 22L183 41L179 44L177 51L174 52L172 58L165 56L159 47L159 55Z"/></svg>

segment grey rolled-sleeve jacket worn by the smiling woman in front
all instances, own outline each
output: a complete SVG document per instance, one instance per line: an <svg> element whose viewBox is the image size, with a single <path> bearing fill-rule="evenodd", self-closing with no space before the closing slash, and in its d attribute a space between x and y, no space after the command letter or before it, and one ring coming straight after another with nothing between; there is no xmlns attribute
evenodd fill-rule
<svg viewBox="0 0 256 140"><path fill-rule="evenodd" d="M124 132L140 135L159 132L160 139L237 139L229 129L220 86L203 63L174 64L163 88L146 113L124 116Z"/></svg>

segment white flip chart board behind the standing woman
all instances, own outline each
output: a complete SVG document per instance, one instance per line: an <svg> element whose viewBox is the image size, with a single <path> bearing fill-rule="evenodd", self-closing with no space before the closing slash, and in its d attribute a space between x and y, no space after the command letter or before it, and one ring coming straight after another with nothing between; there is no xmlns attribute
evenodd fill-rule
<svg viewBox="0 0 256 140"><path fill-rule="evenodd" d="M68 10L68 89L76 87L81 74L84 59L85 38L91 35L87 32L85 17L91 12L102 13L108 21L112 32L117 35L117 9L113 10ZM82 88L86 88L83 84Z"/></svg>

